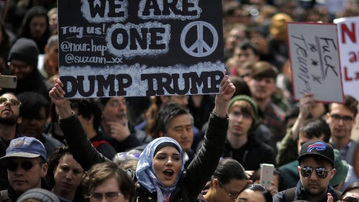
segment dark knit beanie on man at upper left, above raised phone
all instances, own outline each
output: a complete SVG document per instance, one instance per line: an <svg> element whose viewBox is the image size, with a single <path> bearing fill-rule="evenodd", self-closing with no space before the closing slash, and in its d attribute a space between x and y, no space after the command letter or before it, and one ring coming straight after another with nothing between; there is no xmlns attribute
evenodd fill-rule
<svg viewBox="0 0 359 202"><path fill-rule="evenodd" d="M36 68L38 55L39 49L34 40L19 38L10 49L8 61L20 60Z"/></svg>

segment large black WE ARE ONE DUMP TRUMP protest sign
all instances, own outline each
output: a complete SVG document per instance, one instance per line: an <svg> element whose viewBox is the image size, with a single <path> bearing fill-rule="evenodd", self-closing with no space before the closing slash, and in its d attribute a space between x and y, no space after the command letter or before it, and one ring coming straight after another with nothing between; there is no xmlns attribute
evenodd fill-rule
<svg viewBox="0 0 359 202"><path fill-rule="evenodd" d="M223 78L220 0L61 0L66 97L210 94Z"/></svg>

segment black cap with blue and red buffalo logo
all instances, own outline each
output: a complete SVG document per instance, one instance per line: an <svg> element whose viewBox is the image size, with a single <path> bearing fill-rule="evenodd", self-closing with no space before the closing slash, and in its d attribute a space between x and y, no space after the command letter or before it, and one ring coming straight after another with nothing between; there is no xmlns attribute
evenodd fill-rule
<svg viewBox="0 0 359 202"><path fill-rule="evenodd" d="M310 156L321 156L326 158L332 165L334 165L334 151L333 147L330 144L321 141L311 141L304 143L300 149L300 155L298 157L298 162L304 159L305 157Z"/></svg>

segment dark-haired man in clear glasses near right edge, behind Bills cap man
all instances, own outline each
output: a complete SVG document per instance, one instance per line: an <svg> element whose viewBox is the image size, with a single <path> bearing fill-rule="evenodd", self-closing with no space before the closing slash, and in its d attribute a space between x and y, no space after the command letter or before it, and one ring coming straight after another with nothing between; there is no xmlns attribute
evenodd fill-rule
<svg viewBox="0 0 359 202"><path fill-rule="evenodd" d="M326 121L329 124L332 136L330 143L340 151L341 159L353 165L353 157L358 143L350 139L351 128L358 113L358 101L350 95L345 96L345 104L332 103Z"/></svg>

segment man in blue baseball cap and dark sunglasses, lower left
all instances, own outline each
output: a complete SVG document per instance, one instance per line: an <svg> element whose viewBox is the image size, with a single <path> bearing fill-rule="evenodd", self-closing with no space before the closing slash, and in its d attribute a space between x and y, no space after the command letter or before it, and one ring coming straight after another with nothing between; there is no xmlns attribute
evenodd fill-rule
<svg viewBox="0 0 359 202"><path fill-rule="evenodd" d="M48 169L46 157L45 147L36 138L11 140L6 155L0 158L0 161L6 162L10 183L7 191L1 191L0 201L10 198L14 202L29 189L47 188L43 180Z"/></svg>

